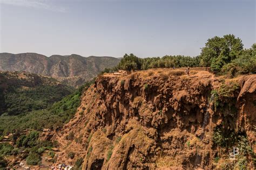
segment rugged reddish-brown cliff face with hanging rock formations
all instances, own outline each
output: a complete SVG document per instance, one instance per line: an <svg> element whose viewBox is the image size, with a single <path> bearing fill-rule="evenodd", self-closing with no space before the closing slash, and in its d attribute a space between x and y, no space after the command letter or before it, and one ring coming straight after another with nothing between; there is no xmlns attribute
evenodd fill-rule
<svg viewBox="0 0 256 170"><path fill-rule="evenodd" d="M73 151L83 169L227 168L240 166L229 159L239 147L237 161L254 167L256 76L176 72L98 77L53 138L57 163Z"/></svg>

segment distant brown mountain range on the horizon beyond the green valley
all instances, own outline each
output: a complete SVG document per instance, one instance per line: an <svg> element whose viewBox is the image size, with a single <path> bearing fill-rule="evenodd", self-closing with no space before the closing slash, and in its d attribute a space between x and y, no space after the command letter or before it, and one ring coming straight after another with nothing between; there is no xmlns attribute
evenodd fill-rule
<svg viewBox="0 0 256 170"><path fill-rule="evenodd" d="M48 57L37 53L0 53L0 70L47 75L78 87L102 72L104 68L116 66L119 61L120 58L110 56L83 57L71 54Z"/></svg>

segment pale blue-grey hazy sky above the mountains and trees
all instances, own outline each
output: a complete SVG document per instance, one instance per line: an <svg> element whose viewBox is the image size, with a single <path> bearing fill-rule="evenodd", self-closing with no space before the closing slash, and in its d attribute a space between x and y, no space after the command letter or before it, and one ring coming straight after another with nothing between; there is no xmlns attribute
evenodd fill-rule
<svg viewBox="0 0 256 170"><path fill-rule="evenodd" d="M0 0L0 52L196 56L225 34L250 48L255 8L254 0Z"/></svg>

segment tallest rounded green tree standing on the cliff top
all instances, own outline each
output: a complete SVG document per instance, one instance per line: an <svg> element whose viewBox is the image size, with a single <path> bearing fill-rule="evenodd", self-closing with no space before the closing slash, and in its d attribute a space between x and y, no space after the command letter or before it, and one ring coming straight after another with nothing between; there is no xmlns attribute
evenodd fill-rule
<svg viewBox="0 0 256 170"><path fill-rule="evenodd" d="M241 39L235 38L233 34L208 39L201 51L200 65L211 67L214 72L218 73L226 63L241 54L243 46Z"/></svg>

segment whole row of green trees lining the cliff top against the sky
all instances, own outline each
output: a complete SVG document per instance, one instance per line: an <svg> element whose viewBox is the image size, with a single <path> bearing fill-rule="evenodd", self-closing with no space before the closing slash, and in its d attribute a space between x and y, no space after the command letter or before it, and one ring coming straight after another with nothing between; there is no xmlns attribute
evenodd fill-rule
<svg viewBox="0 0 256 170"><path fill-rule="evenodd" d="M147 70L150 68L173 67L211 67L215 74L236 76L256 73L256 44L244 49L240 38L228 34L224 37L208 39L201 54L195 57L183 55L165 55L163 57L138 58L133 54L125 54L114 68L106 68L103 73L124 70Z"/></svg>

